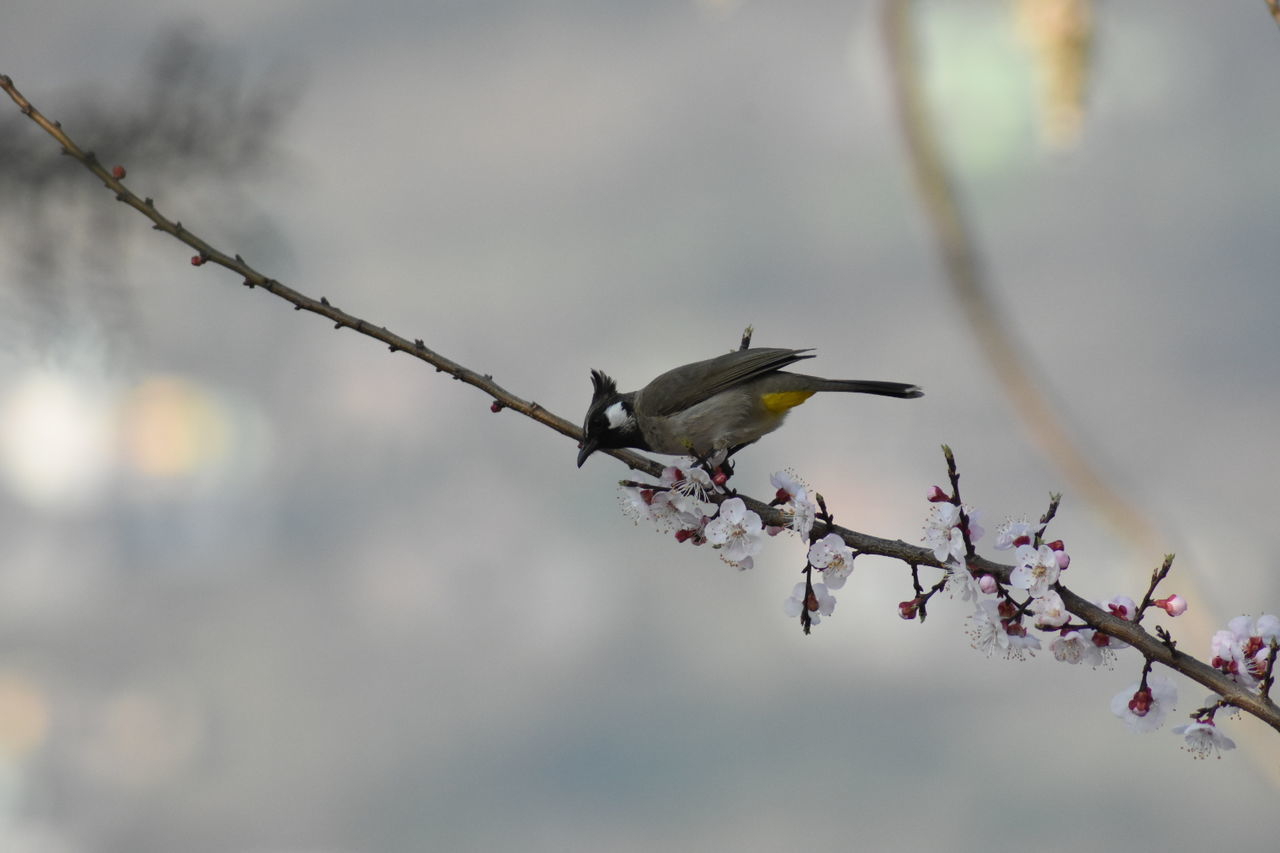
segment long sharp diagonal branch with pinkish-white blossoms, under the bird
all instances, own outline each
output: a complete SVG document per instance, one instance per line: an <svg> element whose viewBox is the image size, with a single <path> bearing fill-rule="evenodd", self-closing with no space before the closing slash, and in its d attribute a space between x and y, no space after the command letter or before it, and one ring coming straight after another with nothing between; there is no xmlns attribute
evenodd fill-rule
<svg viewBox="0 0 1280 853"><path fill-rule="evenodd" d="M180 222L164 216L151 199L133 193L124 184L123 167L106 169L92 151L81 149L58 122L47 119L23 97L8 77L0 76L0 88L13 99L24 115L61 145L63 154L92 172L108 190L114 192L118 201L150 219L156 231L195 250L192 265L224 266L234 272L248 288L261 288L292 304L296 310L326 318L334 323L335 329L348 328L380 341L392 352L411 355L433 365L438 371L448 373L454 379L481 389L490 397L493 411L511 409L575 441L582 439L577 425L534 401L517 397L497 384L492 375L470 370L430 350L421 338L410 339L389 332L385 327L335 307L325 297L310 297L264 275L239 255L220 251L183 227ZM744 346L749 339L750 329L744 334ZM983 607L979 607L979 613L986 611L988 616L982 630L995 635L1005 648L1012 647L1015 642L1019 649L1038 646L1038 640L1034 640L1034 637L1028 638L1023 626L1024 619L1029 616L1034 616L1036 628L1041 630L1056 628L1064 637L1071 633L1079 635L1082 629L1087 630L1097 648L1107 646L1111 639L1117 644L1135 648L1144 663L1142 680L1135 685L1133 695L1125 697L1124 704L1130 715L1144 717L1152 710L1160 708L1164 702L1164 683L1151 676L1153 663L1181 672L1216 693L1221 699L1215 706L1202 708L1193 715L1196 722L1184 726L1188 729L1188 743L1225 748L1221 738L1213 739L1212 715L1217 708L1226 706L1248 712L1280 731L1280 707L1270 698L1280 620L1274 616L1260 617L1257 622L1233 620L1229 631L1220 631L1220 635L1215 637L1215 658L1210 665L1180 652L1167 631L1156 629L1152 634L1139 624L1146 611L1153 606L1170 615L1185 608L1185 602L1178 596L1155 598L1156 587L1169 575L1172 557L1166 557L1153 574L1140 606L1135 606L1130 599L1119 598L1106 606L1098 606L1082 598L1059 580L1059 573L1069 564L1062 543L1043 540L1044 530L1057 512L1060 496L1051 497L1048 510L1034 528L1025 521L1016 523L1005 525L1002 533L997 535L997 548L1016 548L1019 557L1016 565L998 564L979 556L975 542L982 535L980 528L974 520L973 508L960 500L959 466L950 448L943 448L943 452L951 491L943 492L933 487L929 492L929 501L933 503L927 534L927 540L933 546L929 548L900 539L882 539L837 525L822 497L815 494L810 498L808 485L786 473L774 475L777 494L772 502L765 503L739 494L736 491L728 491L723 480L713 479L707 471L692 465L684 469L664 467L631 451L605 452L634 470L662 478L659 484L627 484L625 493L628 494L630 507L636 514L676 526L676 538L681 542L712 544L721 551L726 562L740 569L751 566L754 555L760 549L763 532L778 533L791 529L804 535L809 543L804 567L805 580L796 584L787 608L792 616L800 617L805 633L817 625L822 616L831 616L835 598L829 590L844 585L856 556L888 557L911 569L915 598L899 606L906 619L923 620L928 599L956 584L961 587L966 598L988 596L982 602ZM920 567L934 567L942 570L945 575L925 590L919 580ZM820 578L820 581L815 580L815 576ZM1028 598L1019 603L1010 588L1027 590ZM991 596L995 598L989 598ZM989 607L986 607L987 605ZM1080 624L1068 624L1066 613L1080 620ZM1193 742L1193 738L1199 740Z"/></svg>

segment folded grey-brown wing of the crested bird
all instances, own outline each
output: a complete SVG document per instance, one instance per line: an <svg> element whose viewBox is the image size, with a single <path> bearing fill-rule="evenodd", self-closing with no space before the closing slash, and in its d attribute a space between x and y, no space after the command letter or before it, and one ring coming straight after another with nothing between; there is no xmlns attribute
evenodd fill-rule
<svg viewBox="0 0 1280 853"><path fill-rule="evenodd" d="M652 416L673 415L722 391L812 357L809 350L759 347L686 364L641 388L636 394L636 411Z"/></svg>

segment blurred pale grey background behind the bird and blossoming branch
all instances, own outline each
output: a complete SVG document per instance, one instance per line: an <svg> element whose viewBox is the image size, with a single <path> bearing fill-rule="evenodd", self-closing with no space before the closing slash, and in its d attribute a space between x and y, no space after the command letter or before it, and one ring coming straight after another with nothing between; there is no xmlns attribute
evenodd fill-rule
<svg viewBox="0 0 1280 853"><path fill-rule="evenodd" d="M10 0L0 73L214 245L571 420L590 368L639 387L748 324L916 382L810 401L739 488L791 467L918 542L950 443L988 532L1066 493L1082 594L1176 552L1207 657L1280 608L1280 28L900 10L905 59L850 0ZM1042 452L948 286L904 79L1018 366L1119 503ZM191 266L0 108L0 849L1274 843L1276 734L1220 717L1242 748L1193 761L1201 688L1133 735L1137 657L987 660L968 605L901 621L874 558L803 637L795 539L740 574L634 526L613 460Z"/></svg>

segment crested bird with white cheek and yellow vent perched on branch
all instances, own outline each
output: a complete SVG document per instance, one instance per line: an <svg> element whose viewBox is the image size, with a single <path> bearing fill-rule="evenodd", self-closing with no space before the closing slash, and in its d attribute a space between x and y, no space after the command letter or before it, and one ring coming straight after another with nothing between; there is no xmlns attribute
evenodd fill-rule
<svg viewBox="0 0 1280 853"><path fill-rule="evenodd" d="M787 412L823 391L920 397L919 386L874 379L823 379L783 368L813 359L813 348L754 347L673 368L639 391L620 393L591 370L591 405L582 423L577 466L598 450L632 447L708 460L772 433Z"/></svg>

